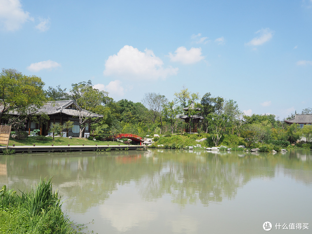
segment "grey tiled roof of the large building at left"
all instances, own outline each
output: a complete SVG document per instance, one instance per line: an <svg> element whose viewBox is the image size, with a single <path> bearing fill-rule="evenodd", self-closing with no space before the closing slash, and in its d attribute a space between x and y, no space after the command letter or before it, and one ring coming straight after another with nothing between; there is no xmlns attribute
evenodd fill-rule
<svg viewBox="0 0 312 234"><path fill-rule="evenodd" d="M82 111L84 116L100 118L103 115L95 114L93 112L83 110L74 100L64 101L48 101L39 110L38 113L45 113L47 115L54 115L62 113L70 116L78 116L77 109ZM16 111L9 111L9 115L17 115Z"/></svg>

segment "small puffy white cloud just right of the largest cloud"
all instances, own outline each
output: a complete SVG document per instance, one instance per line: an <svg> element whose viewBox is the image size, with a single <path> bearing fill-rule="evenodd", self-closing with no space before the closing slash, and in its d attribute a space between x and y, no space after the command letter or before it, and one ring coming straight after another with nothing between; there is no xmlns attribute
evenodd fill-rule
<svg viewBox="0 0 312 234"><path fill-rule="evenodd" d="M183 64L192 64L197 63L204 59L202 56L202 48L192 47L190 50L187 50L184 46L179 47L174 54L169 53L170 61L172 62L181 62Z"/></svg>

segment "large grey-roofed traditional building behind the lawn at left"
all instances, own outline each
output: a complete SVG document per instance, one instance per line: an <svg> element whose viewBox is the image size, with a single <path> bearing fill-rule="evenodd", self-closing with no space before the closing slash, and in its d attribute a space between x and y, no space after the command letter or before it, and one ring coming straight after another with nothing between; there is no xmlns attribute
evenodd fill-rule
<svg viewBox="0 0 312 234"><path fill-rule="evenodd" d="M87 110L83 110L74 100L64 100L64 101L48 101L44 104L36 114L44 113L49 116L49 120L46 124L44 123L36 123L32 121L30 118L27 118L26 128L24 129L28 134L30 134L34 129L40 129L38 134L47 135L49 133L49 129L53 124L60 123L64 124L66 121L71 120L74 122L74 126L72 129L67 129L64 137L72 136L79 137L79 115L83 115L84 117L90 118L102 118L103 115L98 115L92 113ZM17 115L13 111L9 111L7 115ZM1 124L6 124L6 119L1 119ZM90 127L89 124L85 127L82 137L86 137L90 135Z"/></svg>

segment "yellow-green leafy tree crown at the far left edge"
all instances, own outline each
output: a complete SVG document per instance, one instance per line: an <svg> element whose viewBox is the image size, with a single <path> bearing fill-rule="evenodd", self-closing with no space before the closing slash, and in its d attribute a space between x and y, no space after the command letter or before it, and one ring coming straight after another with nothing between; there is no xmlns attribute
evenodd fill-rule
<svg viewBox="0 0 312 234"><path fill-rule="evenodd" d="M0 74L0 118L8 111L27 116L46 102L44 82L37 76L25 76L15 69Z"/></svg>

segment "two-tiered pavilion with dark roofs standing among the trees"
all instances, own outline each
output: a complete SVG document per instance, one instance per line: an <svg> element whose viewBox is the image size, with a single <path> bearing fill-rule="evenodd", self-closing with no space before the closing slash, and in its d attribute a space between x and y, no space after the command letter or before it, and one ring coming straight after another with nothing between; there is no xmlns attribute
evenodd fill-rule
<svg viewBox="0 0 312 234"><path fill-rule="evenodd" d="M196 114L202 109L198 107L195 108L194 102L192 101L191 105L183 108L183 110L184 110L184 115L179 116L179 118L183 119L185 123L188 123L189 133L197 133L197 125L201 119L204 119L204 117L196 115Z"/></svg>

